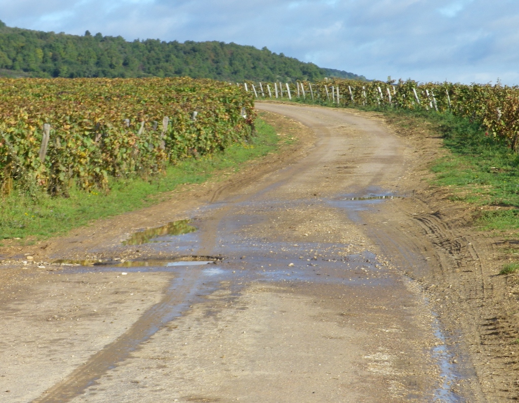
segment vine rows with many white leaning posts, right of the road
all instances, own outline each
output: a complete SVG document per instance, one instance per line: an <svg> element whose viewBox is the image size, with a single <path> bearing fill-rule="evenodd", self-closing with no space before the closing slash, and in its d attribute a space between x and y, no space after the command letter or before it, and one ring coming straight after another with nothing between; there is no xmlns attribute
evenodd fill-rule
<svg viewBox="0 0 519 403"><path fill-rule="evenodd" d="M519 88L490 84L418 84L413 80L254 83L242 85L255 98L288 98L350 107L392 107L450 111L482 124L489 135L506 138L519 151Z"/></svg>

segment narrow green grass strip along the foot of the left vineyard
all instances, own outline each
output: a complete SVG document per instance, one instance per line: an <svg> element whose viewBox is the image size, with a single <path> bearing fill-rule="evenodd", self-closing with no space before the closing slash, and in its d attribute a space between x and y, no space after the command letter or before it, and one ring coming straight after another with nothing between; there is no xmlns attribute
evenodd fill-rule
<svg viewBox="0 0 519 403"><path fill-rule="evenodd" d="M256 121L256 135L248 143L199 160L187 159L169 166L165 175L151 180L141 178L112 181L110 192L71 189L70 198L51 198L40 194L37 202L14 191L0 207L0 240L26 237L42 239L87 225L92 220L122 214L166 200L168 192L182 184L199 184L217 173L236 172L244 162L276 151L281 144L274 128L262 119Z"/></svg>

